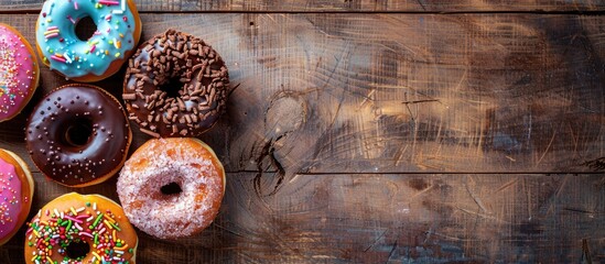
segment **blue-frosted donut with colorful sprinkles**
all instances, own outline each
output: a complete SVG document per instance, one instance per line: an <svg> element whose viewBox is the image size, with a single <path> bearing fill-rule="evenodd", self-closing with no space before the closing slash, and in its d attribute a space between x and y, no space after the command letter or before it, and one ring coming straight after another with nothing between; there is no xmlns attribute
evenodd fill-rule
<svg viewBox="0 0 605 264"><path fill-rule="evenodd" d="M76 25L90 18L97 29L88 40ZM76 81L97 81L114 75L141 36L141 19L132 0L46 0L35 24L42 63Z"/></svg>

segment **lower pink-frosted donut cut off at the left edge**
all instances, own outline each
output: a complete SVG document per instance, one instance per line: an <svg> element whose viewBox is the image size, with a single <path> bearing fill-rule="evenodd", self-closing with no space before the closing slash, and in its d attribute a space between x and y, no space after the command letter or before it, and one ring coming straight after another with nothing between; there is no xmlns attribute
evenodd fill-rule
<svg viewBox="0 0 605 264"><path fill-rule="evenodd" d="M0 245L7 243L28 220L34 180L17 154L0 150Z"/></svg>

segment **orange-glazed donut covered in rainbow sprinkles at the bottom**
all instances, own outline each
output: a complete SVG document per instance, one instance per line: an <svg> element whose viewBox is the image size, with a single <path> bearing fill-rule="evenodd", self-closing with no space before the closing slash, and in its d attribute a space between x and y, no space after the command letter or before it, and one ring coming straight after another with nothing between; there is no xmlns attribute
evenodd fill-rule
<svg viewBox="0 0 605 264"><path fill-rule="evenodd" d="M134 263L139 239L122 208L100 195L69 193L28 223L26 263Z"/></svg>

